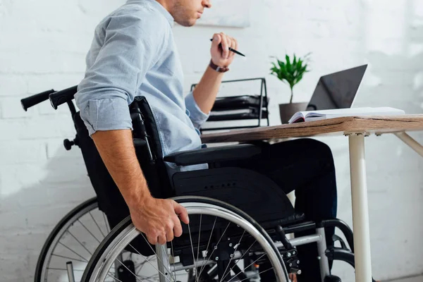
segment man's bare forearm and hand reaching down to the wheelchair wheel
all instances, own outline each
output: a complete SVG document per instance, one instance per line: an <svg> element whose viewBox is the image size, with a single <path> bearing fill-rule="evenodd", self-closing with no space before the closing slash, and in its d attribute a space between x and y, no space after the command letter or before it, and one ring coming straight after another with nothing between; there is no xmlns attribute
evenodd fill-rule
<svg viewBox="0 0 423 282"><path fill-rule="evenodd" d="M135 155L131 130L97 131L92 139L128 204L134 225L147 235L149 243L164 245L182 235L178 216L188 224L188 214L172 200L152 197Z"/></svg>

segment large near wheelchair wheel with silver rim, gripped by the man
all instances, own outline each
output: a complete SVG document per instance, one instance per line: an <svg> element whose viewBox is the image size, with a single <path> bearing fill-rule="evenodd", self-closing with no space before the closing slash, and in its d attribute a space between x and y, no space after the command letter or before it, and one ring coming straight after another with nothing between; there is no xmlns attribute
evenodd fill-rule
<svg viewBox="0 0 423 282"><path fill-rule="evenodd" d="M167 245L149 245L128 216L99 245L81 281L252 282L259 281L259 276L269 271L274 273L275 281L288 281L277 247L250 216L209 198L173 200L182 204L190 215L190 224L183 224L180 238ZM130 250L133 259L139 257L145 261L140 271L126 267L119 259L124 250ZM123 265L131 278L121 279L114 271L116 264ZM261 264L270 267L260 269Z"/></svg>

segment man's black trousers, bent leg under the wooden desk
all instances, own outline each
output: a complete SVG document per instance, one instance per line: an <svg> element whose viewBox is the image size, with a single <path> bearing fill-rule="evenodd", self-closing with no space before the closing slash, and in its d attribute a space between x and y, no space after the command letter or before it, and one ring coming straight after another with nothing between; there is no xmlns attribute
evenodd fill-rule
<svg viewBox="0 0 423 282"><path fill-rule="evenodd" d="M331 149L317 140L298 139L269 145L260 143L262 153L243 161L227 161L223 166L249 168L268 176L286 194L295 190L295 210L303 212L307 220L336 218L337 193L335 166ZM310 235L314 231L295 234ZM333 245L334 228L326 228L326 244ZM319 282L317 243L298 246L302 274L298 281ZM267 269L266 266L260 269ZM272 277L273 276L273 277ZM262 274L262 281L275 281L272 271Z"/></svg>

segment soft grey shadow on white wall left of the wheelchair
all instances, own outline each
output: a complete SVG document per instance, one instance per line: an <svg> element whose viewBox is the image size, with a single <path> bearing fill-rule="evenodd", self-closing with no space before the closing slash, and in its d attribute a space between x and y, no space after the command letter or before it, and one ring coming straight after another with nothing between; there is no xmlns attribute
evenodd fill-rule
<svg viewBox="0 0 423 282"><path fill-rule="evenodd" d="M42 180L1 200L1 281L33 281L39 252L56 223L95 195L78 147L67 152L62 146L53 156L36 168L45 173ZM25 171L16 173L25 178Z"/></svg>

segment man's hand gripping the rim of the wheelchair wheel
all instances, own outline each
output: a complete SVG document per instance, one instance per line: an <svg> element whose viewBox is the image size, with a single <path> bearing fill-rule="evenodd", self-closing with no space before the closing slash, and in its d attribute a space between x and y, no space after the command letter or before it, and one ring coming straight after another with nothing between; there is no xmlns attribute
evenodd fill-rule
<svg viewBox="0 0 423 282"><path fill-rule="evenodd" d="M182 235L180 220L189 223L185 207L173 200L147 197L129 206L130 217L135 227L147 235L149 243L164 245L174 237ZM179 216L179 217L178 217Z"/></svg>

